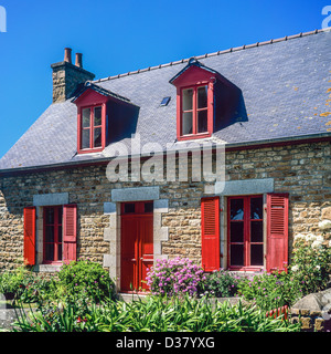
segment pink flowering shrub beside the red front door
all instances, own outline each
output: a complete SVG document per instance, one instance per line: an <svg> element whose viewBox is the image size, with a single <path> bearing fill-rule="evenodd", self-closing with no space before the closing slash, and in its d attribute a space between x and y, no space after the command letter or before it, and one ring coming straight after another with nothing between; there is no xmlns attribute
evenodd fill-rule
<svg viewBox="0 0 331 354"><path fill-rule="evenodd" d="M148 270L147 283L154 295L175 295L202 292L205 275L203 269L188 258L158 260L156 267Z"/></svg>

